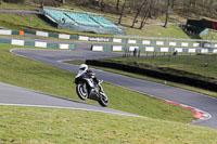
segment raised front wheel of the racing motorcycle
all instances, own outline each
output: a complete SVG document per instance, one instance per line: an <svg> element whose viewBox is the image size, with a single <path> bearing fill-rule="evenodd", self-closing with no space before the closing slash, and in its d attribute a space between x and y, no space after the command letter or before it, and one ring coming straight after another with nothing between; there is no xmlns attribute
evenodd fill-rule
<svg viewBox="0 0 217 144"><path fill-rule="evenodd" d="M87 91L86 83L78 83L78 84L76 86L76 92L77 92L77 95L78 95L81 100L88 99L88 91Z"/></svg>

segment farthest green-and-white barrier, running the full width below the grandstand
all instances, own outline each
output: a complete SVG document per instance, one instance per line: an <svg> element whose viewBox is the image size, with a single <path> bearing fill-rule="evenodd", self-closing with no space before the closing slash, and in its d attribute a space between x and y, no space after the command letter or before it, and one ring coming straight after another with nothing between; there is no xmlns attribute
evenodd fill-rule
<svg viewBox="0 0 217 144"><path fill-rule="evenodd" d="M136 38L112 38L112 37L89 37L89 36L78 36L78 35L68 35L68 34L56 34L56 32L46 32L46 31L35 31L30 29L24 29L25 34L31 34L40 37L51 37L59 39L72 39L72 40L82 40L82 41L98 41L98 42L113 42L119 44L140 44L140 45L154 45L154 47L178 47L178 48L206 48L215 49L217 48L217 41L207 41L196 40L197 42L181 42L180 40L190 41L191 39L178 39L180 42L168 41L164 39L159 40L150 40L148 39L136 39ZM20 35L17 30L5 30L0 29L0 35ZM157 39L157 38L153 38ZM212 43L210 43L212 42Z"/></svg>

